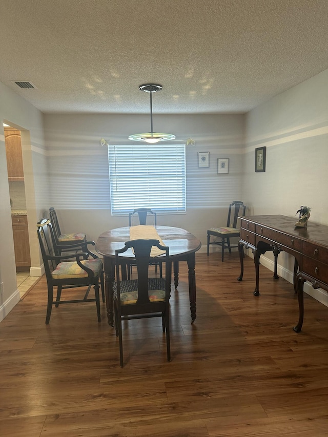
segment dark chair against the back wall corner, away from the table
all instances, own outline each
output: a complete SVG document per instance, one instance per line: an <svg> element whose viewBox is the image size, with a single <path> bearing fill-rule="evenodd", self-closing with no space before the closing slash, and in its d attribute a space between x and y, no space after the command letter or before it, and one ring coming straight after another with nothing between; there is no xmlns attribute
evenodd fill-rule
<svg viewBox="0 0 328 437"><path fill-rule="evenodd" d="M235 200L229 205L228 220L226 227L211 227L207 231L207 256L210 252L210 244L221 246L221 258L223 262L224 249L228 249L231 254L232 247L238 247L238 244L231 245L230 238L240 236L240 228L237 228L238 216L245 215L246 206L240 200ZM210 241L211 237L220 239L219 241Z"/></svg>

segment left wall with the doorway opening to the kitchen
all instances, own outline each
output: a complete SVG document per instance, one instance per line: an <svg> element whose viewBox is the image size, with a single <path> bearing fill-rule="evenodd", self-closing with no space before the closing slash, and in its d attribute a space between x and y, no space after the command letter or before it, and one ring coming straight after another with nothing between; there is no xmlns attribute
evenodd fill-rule
<svg viewBox="0 0 328 437"><path fill-rule="evenodd" d="M22 152L28 209L28 225L32 269L42 264L36 237L36 222L44 207L47 194L46 155L43 139L43 115L0 82L0 321L19 301L16 282L16 268L12 222L10 213L9 183L7 173L3 121L22 129Z"/></svg>

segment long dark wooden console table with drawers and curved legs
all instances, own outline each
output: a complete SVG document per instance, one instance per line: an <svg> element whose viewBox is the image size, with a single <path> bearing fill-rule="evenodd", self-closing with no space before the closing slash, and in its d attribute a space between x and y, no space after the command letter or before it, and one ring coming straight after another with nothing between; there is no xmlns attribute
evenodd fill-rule
<svg viewBox="0 0 328 437"><path fill-rule="evenodd" d="M299 320L293 328L300 332L304 317L303 287L309 281L313 288L328 291L328 226L308 222L307 228L295 227L296 217L259 215L239 217L241 222L238 251L240 276L243 276L243 248L254 253L256 285L254 295L259 296L260 256L272 251L275 257L274 278L277 275L277 258L282 251L295 257L294 288L298 297Z"/></svg>

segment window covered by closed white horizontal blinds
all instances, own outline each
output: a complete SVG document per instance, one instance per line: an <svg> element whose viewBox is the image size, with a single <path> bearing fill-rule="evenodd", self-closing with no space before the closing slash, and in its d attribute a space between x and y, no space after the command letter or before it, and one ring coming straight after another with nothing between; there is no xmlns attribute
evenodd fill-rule
<svg viewBox="0 0 328 437"><path fill-rule="evenodd" d="M185 144L109 145L111 212L186 212Z"/></svg>

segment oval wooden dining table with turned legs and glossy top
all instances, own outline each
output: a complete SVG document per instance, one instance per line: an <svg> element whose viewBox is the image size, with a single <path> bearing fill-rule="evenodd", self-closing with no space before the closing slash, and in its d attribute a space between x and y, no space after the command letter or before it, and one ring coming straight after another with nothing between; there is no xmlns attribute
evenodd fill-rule
<svg viewBox="0 0 328 437"><path fill-rule="evenodd" d="M187 261L189 300L192 323L196 319L196 278L195 278L195 253L200 249L201 242L193 234L180 227L154 226L163 243L169 247L169 258L173 262L174 285L178 285L179 262ZM117 227L99 235L95 249L104 257L106 307L109 325L113 326L113 287L115 250L124 246L130 240L130 226ZM124 258L129 264L133 262L134 255L130 252ZM156 257L160 260L160 256Z"/></svg>

